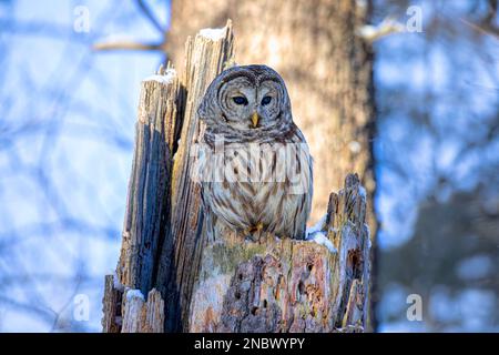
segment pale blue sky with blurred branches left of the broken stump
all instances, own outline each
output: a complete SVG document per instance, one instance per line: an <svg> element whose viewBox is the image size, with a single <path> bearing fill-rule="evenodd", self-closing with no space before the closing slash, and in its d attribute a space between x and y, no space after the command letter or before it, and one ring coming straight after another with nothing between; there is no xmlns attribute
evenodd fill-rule
<svg viewBox="0 0 499 355"><path fill-rule="evenodd" d="M77 4L89 9L89 33L73 31ZM12 19L16 26L4 22ZM2 1L0 22L0 242L9 241L0 275L29 275L0 284L0 329L62 327L54 313L71 320L72 298L83 293L90 321L70 327L99 331L103 275L121 242L140 82L162 58L95 53L91 44L159 36L122 1Z"/></svg>

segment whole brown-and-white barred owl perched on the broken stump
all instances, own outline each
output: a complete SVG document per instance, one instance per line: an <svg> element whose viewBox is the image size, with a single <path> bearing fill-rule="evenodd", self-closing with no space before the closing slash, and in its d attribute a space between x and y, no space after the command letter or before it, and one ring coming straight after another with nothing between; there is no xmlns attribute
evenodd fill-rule
<svg viewBox="0 0 499 355"><path fill-rule="evenodd" d="M225 70L206 89L197 114L208 223L221 221L252 240L264 232L305 239L313 161L281 75L266 65Z"/></svg>

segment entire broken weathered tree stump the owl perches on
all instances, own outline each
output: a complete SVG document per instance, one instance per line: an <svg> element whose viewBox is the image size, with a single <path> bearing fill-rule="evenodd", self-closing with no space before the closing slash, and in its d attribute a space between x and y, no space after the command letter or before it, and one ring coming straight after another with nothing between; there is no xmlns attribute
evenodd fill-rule
<svg viewBox="0 0 499 355"><path fill-rule="evenodd" d="M108 275L104 332L334 332L366 325L369 242L357 175L332 194L314 241L258 242L215 226L205 237L191 180L203 134L196 109L233 63L232 24L202 30L185 69L142 83L135 151L115 275ZM316 169L319 169L316 166ZM319 245L324 244L324 245ZM146 297L145 297L146 295Z"/></svg>

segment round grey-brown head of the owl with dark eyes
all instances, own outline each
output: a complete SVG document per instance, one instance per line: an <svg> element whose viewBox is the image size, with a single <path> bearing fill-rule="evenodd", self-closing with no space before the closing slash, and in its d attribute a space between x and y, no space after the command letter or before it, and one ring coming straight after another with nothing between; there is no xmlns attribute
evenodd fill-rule
<svg viewBox="0 0 499 355"><path fill-rule="evenodd" d="M283 129L293 121L286 85L266 65L222 72L206 89L197 112L208 128L231 128L246 134Z"/></svg>

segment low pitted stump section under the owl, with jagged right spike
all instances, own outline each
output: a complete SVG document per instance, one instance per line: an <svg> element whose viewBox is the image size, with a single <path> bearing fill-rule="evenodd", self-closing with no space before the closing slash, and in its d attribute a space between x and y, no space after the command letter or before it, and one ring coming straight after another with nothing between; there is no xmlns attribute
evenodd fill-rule
<svg viewBox="0 0 499 355"><path fill-rule="evenodd" d="M189 331L363 331L370 268L363 191L348 175L330 195L315 232L329 247L269 234L255 243L218 225L203 247Z"/></svg>

